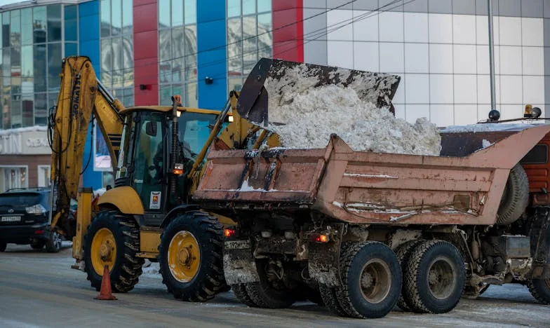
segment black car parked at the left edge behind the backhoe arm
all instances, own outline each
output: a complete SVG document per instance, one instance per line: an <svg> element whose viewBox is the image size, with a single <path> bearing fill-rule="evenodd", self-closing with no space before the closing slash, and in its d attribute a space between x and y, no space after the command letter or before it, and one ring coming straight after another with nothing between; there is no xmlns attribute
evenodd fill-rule
<svg viewBox="0 0 550 328"><path fill-rule="evenodd" d="M61 236L50 231L51 189L9 189L0 193L0 252L6 244L31 245L35 250L46 246L59 252Z"/></svg>

